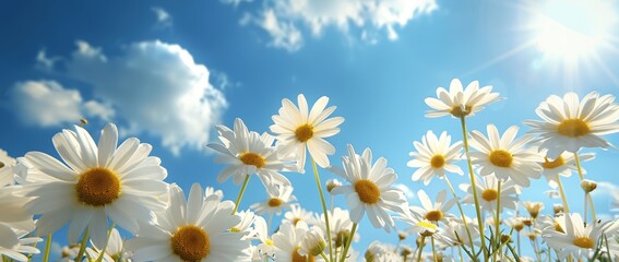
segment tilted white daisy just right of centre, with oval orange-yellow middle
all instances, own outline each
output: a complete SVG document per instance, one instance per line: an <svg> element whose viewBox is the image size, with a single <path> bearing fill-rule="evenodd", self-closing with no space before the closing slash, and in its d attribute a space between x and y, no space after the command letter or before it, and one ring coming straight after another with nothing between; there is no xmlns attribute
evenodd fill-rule
<svg viewBox="0 0 619 262"><path fill-rule="evenodd" d="M346 194L350 218L354 223L359 223L367 212L373 227L383 227L389 233L395 224L386 211L405 213L407 205L404 193L391 187L397 179L395 171L386 167L384 157L380 157L372 164L370 148L366 148L362 155L358 155L349 144L348 156L342 157L342 164L344 170L338 168L331 168L331 170L350 184L335 188L332 192Z"/></svg>

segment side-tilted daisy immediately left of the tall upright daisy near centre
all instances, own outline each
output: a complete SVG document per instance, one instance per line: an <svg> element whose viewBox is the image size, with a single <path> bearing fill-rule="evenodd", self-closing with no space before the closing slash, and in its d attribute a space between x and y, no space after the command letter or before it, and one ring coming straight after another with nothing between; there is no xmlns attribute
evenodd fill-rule
<svg viewBox="0 0 619 262"><path fill-rule="evenodd" d="M246 176L255 174L263 184L266 184L266 180L290 184L279 171L291 169L293 166L281 159L273 146L275 139L272 135L250 132L239 118L235 119L234 130L219 124L217 131L223 144L207 146L219 153L215 163L228 165L217 176L217 182L233 177L235 184L239 184Z"/></svg>

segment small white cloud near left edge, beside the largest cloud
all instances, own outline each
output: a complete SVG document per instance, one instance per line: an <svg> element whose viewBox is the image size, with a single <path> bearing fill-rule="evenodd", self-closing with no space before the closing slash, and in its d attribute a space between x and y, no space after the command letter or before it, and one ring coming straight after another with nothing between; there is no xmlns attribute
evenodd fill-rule
<svg viewBox="0 0 619 262"><path fill-rule="evenodd" d="M98 102L84 103L78 90L64 88L55 81L16 83L11 96L20 119L34 126L79 123L84 117L109 120L115 114L111 107Z"/></svg>

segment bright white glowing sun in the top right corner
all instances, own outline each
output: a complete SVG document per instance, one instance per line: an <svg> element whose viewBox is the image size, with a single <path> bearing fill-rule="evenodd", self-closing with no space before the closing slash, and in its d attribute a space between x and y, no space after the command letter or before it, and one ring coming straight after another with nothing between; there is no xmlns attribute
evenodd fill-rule
<svg viewBox="0 0 619 262"><path fill-rule="evenodd" d="M531 27L537 49L563 60L583 60L610 46L617 14L610 0L536 2Z"/></svg>

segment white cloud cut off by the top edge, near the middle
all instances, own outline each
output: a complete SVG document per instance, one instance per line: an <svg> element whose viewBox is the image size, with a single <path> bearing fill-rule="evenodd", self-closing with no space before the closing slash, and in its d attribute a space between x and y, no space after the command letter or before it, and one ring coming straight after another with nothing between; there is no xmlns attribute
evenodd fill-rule
<svg viewBox="0 0 619 262"><path fill-rule="evenodd" d="M438 7L435 0L282 0L264 1L263 5L259 14L252 15L254 24L269 33L271 46L288 51L301 47L301 26L312 36L320 36L329 26L349 34L349 27L355 26L361 29L362 40L376 43L373 32L379 31L385 31L390 40L396 40L398 27ZM243 14L241 24L248 24L247 21Z"/></svg>

